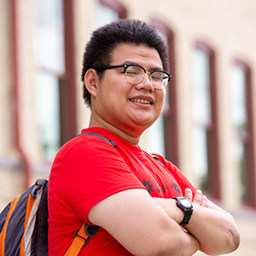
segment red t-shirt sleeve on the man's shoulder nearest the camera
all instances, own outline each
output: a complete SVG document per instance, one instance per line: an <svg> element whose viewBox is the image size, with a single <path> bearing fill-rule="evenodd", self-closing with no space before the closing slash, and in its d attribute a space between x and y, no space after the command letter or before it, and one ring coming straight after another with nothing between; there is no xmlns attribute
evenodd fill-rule
<svg viewBox="0 0 256 256"><path fill-rule="evenodd" d="M57 196L85 220L97 202L126 189L145 187L113 145L92 136L84 136L69 149L55 178ZM70 207L66 210L68 215Z"/></svg>

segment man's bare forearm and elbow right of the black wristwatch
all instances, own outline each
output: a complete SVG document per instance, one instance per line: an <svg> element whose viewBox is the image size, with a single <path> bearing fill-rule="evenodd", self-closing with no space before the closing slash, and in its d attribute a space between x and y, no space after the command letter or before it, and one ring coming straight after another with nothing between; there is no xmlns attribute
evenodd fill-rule
<svg viewBox="0 0 256 256"><path fill-rule="evenodd" d="M228 212L194 204L192 218L185 229L200 241L201 251L208 255L230 253L239 245L239 231Z"/></svg>

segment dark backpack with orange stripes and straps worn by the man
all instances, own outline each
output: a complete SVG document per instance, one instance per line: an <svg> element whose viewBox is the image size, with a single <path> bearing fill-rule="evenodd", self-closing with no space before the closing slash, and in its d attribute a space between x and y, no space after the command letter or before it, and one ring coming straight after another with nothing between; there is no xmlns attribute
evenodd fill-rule
<svg viewBox="0 0 256 256"><path fill-rule="evenodd" d="M116 145L112 140L94 132L84 132ZM79 136L80 136L79 135ZM0 213L0 256L47 256L48 253L48 180L38 179L30 189L15 199ZM65 256L76 256L95 236L99 227L87 224L74 234L73 243Z"/></svg>

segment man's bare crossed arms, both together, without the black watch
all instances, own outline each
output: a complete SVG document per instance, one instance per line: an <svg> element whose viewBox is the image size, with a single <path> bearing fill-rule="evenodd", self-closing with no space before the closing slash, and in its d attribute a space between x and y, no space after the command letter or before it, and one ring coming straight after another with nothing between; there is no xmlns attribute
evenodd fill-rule
<svg viewBox="0 0 256 256"><path fill-rule="evenodd" d="M88 219L102 226L130 253L140 255L193 255L199 249L208 255L230 253L240 235L232 216L208 201L198 190L186 189L193 201L189 224L179 225L183 212L172 199L152 198L144 189L129 189L100 201Z"/></svg>

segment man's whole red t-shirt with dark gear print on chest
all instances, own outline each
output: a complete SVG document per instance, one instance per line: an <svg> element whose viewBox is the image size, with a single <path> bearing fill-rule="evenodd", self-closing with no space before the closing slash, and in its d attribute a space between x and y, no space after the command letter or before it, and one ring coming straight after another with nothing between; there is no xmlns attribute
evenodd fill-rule
<svg viewBox="0 0 256 256"><path fill-rule="evenodd" d="M126 189L147 189L154 197L183 195L195 188L171 162L160 164L142 148L102 128L89 128L113 140L80 135L66 143L55 157L49 177L49 256L67 252L76 230L90 208L109 195ZM131 255L113 236L100 228L79 255Z"/></svg>

